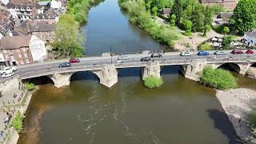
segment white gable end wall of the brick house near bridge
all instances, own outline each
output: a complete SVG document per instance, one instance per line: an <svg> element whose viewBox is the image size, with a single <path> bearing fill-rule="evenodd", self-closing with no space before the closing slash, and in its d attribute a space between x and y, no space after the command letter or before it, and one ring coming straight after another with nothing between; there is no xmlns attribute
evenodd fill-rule
<svg viewBox="0 0 256 144"><path fill-rule="evenodd" d="M43 61L47 58L45 42L38 37L32 35L30 39L30 52L32 54L33 61Z"/></svg>

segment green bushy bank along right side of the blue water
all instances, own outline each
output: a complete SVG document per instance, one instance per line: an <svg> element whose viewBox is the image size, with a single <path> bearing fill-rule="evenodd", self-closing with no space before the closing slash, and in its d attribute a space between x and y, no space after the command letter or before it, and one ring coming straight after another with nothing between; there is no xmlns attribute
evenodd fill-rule
<svg viewBox="0 0 256 144"><path fill-rule="evenodd" d="M118 0L119 6L129 13L130 22L138 25L146 30L158 42L174 47L174 43L178 40L178 32L174 27L162 26L154 21L151 14L146 11L145 2L143 0L130 1Z"/></svg>

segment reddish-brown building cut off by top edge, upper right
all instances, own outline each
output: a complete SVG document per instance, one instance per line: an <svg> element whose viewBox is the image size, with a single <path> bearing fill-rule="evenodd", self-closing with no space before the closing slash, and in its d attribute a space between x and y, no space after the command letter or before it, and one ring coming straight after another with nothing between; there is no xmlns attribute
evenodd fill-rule
<svg viewBox="0 0 256 144"><path fill-rule="evenodd" d="M204 6L213 6L220 4L226 8L226 10L234 10L237 6L237 0L199 0Z"/></svg>

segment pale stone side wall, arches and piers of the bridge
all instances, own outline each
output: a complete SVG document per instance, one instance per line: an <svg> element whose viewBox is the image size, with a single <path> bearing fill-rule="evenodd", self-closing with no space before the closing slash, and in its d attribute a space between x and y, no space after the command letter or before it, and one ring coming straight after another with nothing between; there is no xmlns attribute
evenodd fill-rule
<svg viewBox="0 0 256 144"><path fill-rule="evenodd" d="M160 77L161 66L180 66L180 71L185 78L198 81L199 74L206 65L218 68L222 66L230 66L239 74L246 74L250 66L255 65L254 58L236 58L230 60L218 60L216 58L181 58L177 59L158 59L154 62L122 62L122 63L108 63L108 64L91 64L85 66L72 66L70 68L55 68L39 70L37 72L27 72L19 74L21 79L37 78L41 76L49 77L54 86L62 87L70 85L70 78L72 74L78 71L91 71L96 74L102 85L111 87L118 82L118 70L122 68L141 67L142 79L148 76ZM256 74L254 74L256 75Z"/></svg>

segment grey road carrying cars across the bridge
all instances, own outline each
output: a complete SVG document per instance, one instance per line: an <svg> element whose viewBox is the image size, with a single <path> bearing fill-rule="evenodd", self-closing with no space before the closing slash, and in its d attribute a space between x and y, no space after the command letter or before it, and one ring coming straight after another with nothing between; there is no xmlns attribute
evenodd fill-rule
<svg viewBox="0 0 256 144"><path fill-rule="evenodd" d="M207 59L207 58L213 58L216 60L224 60L226 57L230 58L250 58L255 59L255 54L230 54L230 51L226 51L226 55L214 55L214 51L210 51L209 56L198 56L196 53L194 53L191 56L182 57L180 56L180 52L168 52L162 55L162 58L155 58L156 60L184 60L191 59L191 60L197 60L197 59ZM150 54L129 54L127 55L129 57L129 60L123 60L122 63L125 62L140 62L141 58L148 57ZM112 60L111 60L112 59ZM23 65L23 66L17 66L17 72L16 74L32 74L40 71L46 71L51 69L64 69L64 68L58 68L59 64L62 62L69 62L69 59L62 59L62 60L56 60L56 61L50 61L50 62L41 62L41 63L34 63L29 65ZM106 57L88 57L88 58L80 58L79 63L72 63L71 67L74 66L92 66L92 65L102 65L102 64L117 64L118 62L118 55L113 56L112 58L110 56ZM7 79L7 78L5 78ZM4 81L3 79L0 79L0 82Z"/></svg>

